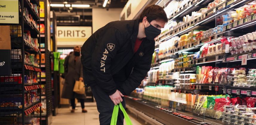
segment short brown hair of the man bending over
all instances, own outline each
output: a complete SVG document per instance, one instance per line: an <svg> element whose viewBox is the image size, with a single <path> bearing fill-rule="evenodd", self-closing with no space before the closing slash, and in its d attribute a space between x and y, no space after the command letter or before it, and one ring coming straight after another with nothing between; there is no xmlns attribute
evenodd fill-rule
<svg viewBox="0 0 256 125"><path fill-rule="evenodd" d="M168 18L164 9L158 5L147 6L139 16L139 21L142 22L144 17L147 17L147 20L151 22L152 20L165 21L168 22Z"/></svg>

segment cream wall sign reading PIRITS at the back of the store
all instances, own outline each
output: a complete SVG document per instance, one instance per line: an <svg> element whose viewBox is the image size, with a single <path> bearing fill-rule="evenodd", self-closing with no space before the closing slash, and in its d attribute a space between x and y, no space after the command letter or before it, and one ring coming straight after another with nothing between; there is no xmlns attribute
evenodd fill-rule
<svg viewBox="0 0 256 125"><path fill-rule="evenodd" d="M81 42L86 41L92 35L92 27L57 27L58 42Z"/></svg>

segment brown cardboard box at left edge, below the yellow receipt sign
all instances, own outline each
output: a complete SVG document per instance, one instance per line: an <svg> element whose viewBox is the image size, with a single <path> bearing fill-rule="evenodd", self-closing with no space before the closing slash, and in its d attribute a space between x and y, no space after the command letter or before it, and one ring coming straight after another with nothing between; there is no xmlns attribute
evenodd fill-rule
<svg viewBox="0 0 256 125"><path fill-rule="evenodd" d="M9 26L0 26L0 50L11 50Z"/></svg>

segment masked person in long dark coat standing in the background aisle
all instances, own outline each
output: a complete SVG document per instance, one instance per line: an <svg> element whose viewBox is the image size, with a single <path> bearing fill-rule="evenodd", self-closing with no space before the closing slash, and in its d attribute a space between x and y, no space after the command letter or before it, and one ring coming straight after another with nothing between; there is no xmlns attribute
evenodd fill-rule
<svg viewBox="0 0 256 125"><path fill-rule="evenodd" d="M85 94L77 94L73 92L73 88L75 85L75 81L83 81L83 72L82 72L82 64L81 64L81 54L80 47L74 47L74 52L70 53L64 62L65 67L65 83L62 91L62 98L70 99L72 110L71 112L75 112L75 98L79 99L81 102L82 112L87 112L84 109L84 100L86 99Z"/></svg>

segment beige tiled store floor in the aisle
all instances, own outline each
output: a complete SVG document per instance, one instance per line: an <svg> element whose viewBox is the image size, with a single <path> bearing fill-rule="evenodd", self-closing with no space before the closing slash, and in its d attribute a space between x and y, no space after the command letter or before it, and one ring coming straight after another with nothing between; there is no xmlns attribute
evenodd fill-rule
<svg viewBox="0 0 256 125"><path fill-rule="evenodd" d="M70 113L70 108L58 109L58 115L53 116L51 125L99 125L96 103L85 103L87 113L81 112L78 107L75 113ZM130 116L133 125L142 125Z"/></svg>

